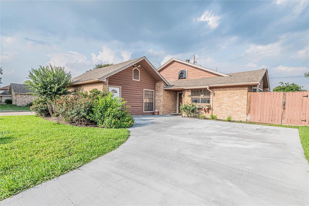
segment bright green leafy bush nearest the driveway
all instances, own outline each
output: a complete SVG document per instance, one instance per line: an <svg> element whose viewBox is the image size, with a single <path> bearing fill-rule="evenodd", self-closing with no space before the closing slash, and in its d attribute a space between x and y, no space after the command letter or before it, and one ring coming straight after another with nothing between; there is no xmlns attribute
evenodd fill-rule
<svg viewBox="0 0 309 206"><path fill-rule="evenodd" d="M123 98L113 97L112 93L107 96L99 96L95 99L89 118L95 121L99 127L105 128L128 128L134 123L133 117L125 109L126 102Z"/></svg>

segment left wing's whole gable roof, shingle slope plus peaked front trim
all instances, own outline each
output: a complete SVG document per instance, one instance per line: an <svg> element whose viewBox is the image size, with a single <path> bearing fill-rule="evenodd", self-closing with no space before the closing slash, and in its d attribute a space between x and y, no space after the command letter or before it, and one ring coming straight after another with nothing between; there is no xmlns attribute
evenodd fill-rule
<svg viewBox="0 0 309 206"><path fill-rule="evenodd" d="M81 83L87 83L91 81L103 81L105 78L108 78L109 76L116 74L117 72L120 72L121 70L126 69L142 60L145 60L150 65L150 67L155 71L155 73L157 73L160 76L160 78L167 85L169 85L168 82L162 77L162 75L157 71L157 69L155 69L155 67L150 63L150 61L148 61L146 57L139 57L139 58L131 59L129 61L114 64L111 66L107 66L107 67L103 67L99 69L93 69L89 72L86 72L77 77L74 77L72 79L71 84L81 84Z"/></svg>

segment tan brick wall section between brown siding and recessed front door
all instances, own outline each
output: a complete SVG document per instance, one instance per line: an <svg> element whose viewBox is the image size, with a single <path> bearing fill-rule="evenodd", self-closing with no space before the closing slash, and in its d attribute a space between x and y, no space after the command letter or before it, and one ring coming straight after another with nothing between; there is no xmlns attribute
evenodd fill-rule
<svg viewBox="0 0 309 206"><path fill-rule="evenodd" d="M155 83L155 109L159 114L175 114L177 109L177 92L163 90L163 82Z"/></svg>

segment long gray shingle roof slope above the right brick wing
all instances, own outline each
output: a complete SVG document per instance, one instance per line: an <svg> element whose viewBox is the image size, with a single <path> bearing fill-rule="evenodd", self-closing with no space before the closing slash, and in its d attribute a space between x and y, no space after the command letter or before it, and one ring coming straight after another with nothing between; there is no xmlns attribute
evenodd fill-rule
<svg viewBox="0 0 309 206"><path fill-rule="evenodd" d="M228 77L208 77L199 79L169 81L168 83L170 83L170 85L164 88L208 86L212 84L228 84L242 82L259 82L263 78L266 71L266 69L260 69L255 71L231 73Z"/></svg>

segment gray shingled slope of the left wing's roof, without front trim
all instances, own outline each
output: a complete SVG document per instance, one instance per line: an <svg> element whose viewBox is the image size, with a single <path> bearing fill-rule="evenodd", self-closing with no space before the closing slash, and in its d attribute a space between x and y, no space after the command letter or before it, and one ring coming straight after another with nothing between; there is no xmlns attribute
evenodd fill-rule
<svg viewBox="0 0 309 206"><path fill-rule="evenodd" d="M87 81L87 80L91 80L91 79L98 79L98 78L101 78L101 77L104 77L118 69L121 69L131 63L133 63L134 61L137 61L138 59L140 59L142 57L139 57L139 58L136 58L136 59L131 59L129 61L125 61L125 62L121 62L119 64L114 64L114 65L111 65L111 66L106 66L106 67L103 67L103 68L99 68L99 69L93 69L89 72L86 72L84 74L81 74L77 77L74 77L72 79L72 82L71 83L75 83L75 82L82 82L82 81Z"/></svg>

